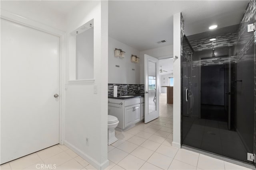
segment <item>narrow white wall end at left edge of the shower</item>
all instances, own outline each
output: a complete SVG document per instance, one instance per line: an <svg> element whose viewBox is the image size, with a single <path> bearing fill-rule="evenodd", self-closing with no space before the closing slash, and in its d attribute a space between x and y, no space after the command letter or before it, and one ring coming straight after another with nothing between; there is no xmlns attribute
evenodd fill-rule
<svg viewBox="0 0 256 170"><path fill-rule="evenodd" d="M180 47L180 17L181 13L173 16L173 55L178 56L173 62L173 142L172 146L180 148L180 61L181 61L181 47Z"/></svg>

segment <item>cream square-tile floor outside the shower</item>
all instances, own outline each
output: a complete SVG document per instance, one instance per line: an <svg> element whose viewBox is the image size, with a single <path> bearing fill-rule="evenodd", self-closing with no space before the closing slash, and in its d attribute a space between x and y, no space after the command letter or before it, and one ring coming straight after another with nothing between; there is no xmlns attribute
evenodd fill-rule
<svg viewBox="0 0 256 170"><path fill-rule="evenodd" d="M242 170L238 166L185 149L172 147L172 105L160 95L160 117L150 123L138 123L124 132L116 131L118 141L108 146L109 166L112 170ZM1 170L38 170L39 165L52 165L48 169L95 169L86 160L64 145L38 151L0 166ZM56 168L54 166L56 164Z"/></svg>

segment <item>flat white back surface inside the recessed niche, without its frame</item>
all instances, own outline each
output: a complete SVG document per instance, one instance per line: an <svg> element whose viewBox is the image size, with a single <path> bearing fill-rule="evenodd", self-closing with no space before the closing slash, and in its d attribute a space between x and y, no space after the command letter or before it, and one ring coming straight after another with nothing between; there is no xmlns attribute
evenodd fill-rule
<svg viewBox="0 0 256 170"><path fill-rule="evenodd" d="M76 36L76 79L94 78L93 27Z"/></svg>

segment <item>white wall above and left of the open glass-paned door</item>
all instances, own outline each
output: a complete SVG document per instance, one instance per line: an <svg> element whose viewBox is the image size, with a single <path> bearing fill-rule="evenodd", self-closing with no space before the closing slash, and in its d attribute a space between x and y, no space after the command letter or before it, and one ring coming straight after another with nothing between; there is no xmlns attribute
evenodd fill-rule
<svg viewBox="0 0 256 170"><path fill-rule="evenodd" d="M173 45L140 51L140 84L144 84L144 55L150 55L157 59L173 57Z"/></svg>

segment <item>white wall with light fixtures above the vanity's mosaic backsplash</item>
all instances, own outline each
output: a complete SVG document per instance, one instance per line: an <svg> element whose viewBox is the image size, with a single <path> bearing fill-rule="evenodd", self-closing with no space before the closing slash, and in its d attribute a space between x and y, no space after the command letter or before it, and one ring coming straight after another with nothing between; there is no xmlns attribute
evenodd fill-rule
<svg viewBox="0 0 256 170"><path fill-rule="evenodd" d="M115 48L125 51L125 57L114 57ZM140 52L108 37L108 83L140 84L140 63L131 62L131 55L139 57ZM116 67L116 65L120 67Z"/></svg>

